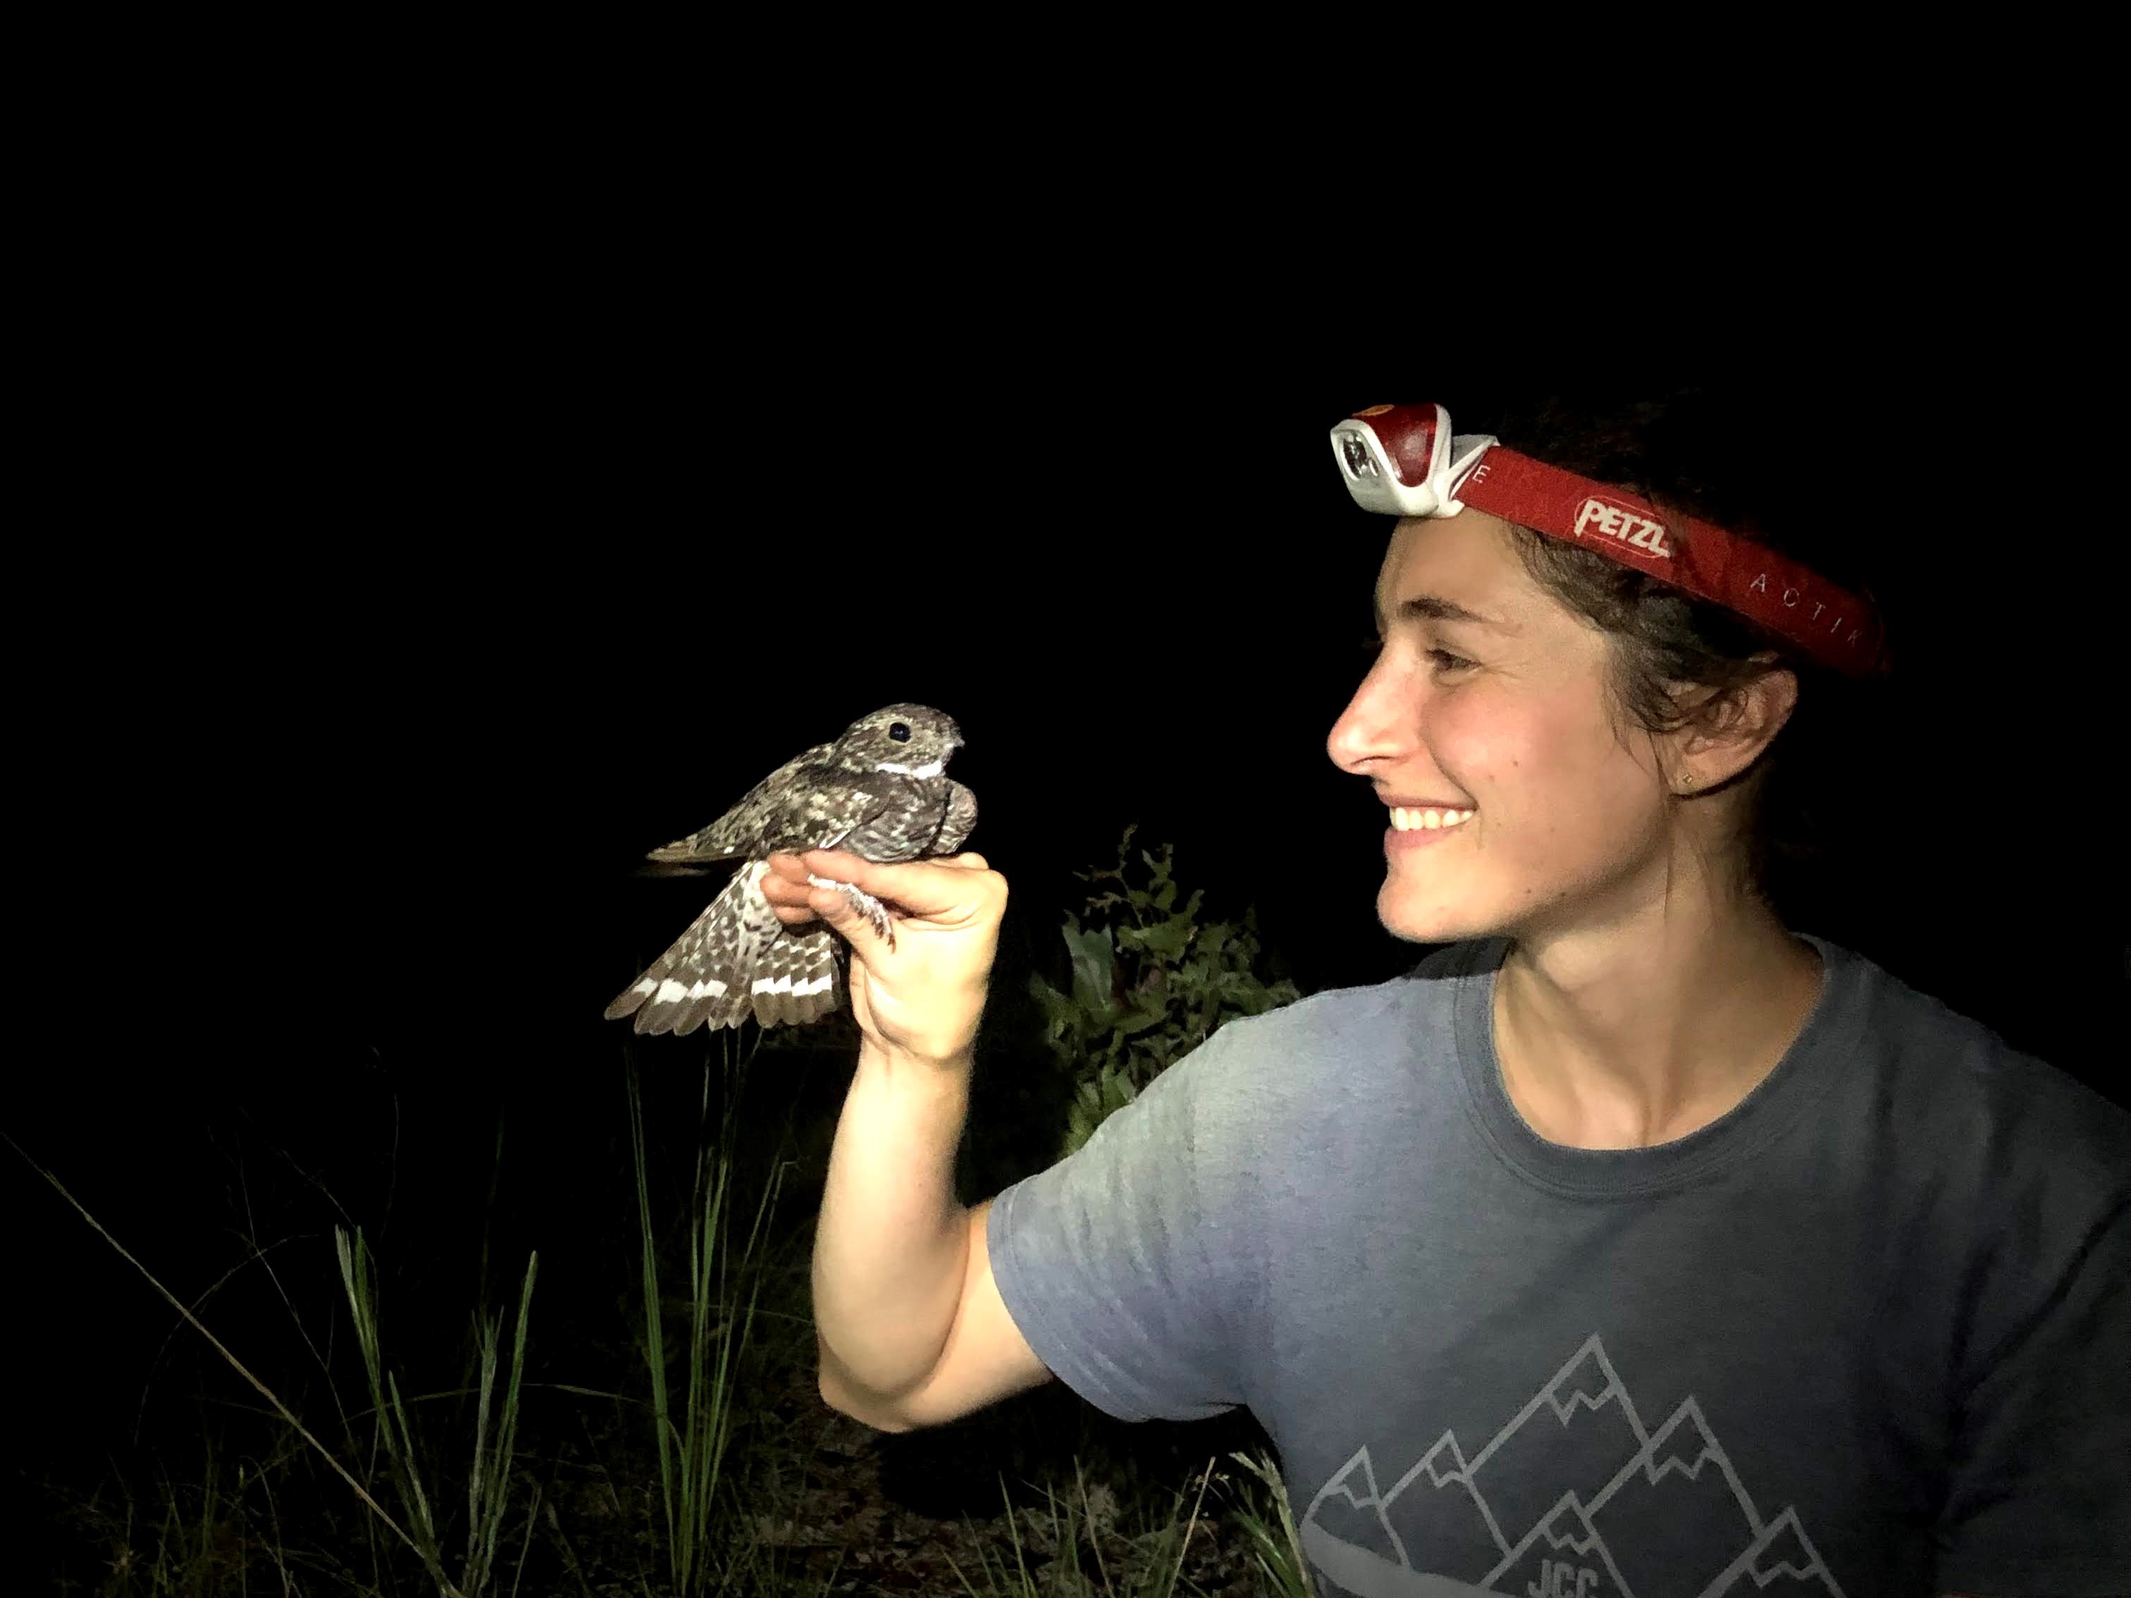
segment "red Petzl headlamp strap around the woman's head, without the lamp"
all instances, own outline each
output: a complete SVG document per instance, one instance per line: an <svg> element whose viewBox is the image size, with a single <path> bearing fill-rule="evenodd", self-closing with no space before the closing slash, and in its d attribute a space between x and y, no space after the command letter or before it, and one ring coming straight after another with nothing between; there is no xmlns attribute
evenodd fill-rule
<svg viewBox="0 0 2131 1598"><path fill-rule="evenodd" d="M1722 526L1666 520L1645 499L1502 445L1481 456L1458 499L1724 605L1824 665L1858 675L1882 665L1884 639L1871 605Z"/></svg>

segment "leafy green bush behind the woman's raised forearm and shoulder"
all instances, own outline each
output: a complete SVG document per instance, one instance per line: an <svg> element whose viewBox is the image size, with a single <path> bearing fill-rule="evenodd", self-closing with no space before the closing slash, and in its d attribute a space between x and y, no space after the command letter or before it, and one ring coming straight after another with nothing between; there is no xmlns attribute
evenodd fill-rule
<svg viewBox="0 0 2131 1598"><path fill-rule="evenodd" d="M1200 920L1204 888L1176 903L1174 846L1164 844L1161 854L1140 850L1146 876L1138 880L1134 831L1127 827L1119 839L1117 867L1080 874L1083 882L1106 886L1087 901L1085 920L1066 912L1072 986L1059 991L1042 976L1029 978L1044 1040L1076 1078L1059 1157L1085 1144L1223 1023L1300 997L1287 978L1257 976L1264 950L1255 912L1245 910L1242 920Z"/></svg>

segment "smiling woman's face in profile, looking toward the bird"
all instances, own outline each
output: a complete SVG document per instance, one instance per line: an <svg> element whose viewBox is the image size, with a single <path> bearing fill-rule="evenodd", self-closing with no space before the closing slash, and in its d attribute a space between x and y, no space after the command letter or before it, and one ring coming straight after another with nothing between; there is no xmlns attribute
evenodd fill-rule
<svg viewBox="0 0 2131 1598"><path fill-rule="evenodd" d="M1468 620L1464 614L1481 620ZM1671 808L1605 703L1605 635L1526 573L1504 522L1402 520L1377 577L1383 650L1332 761L1394 808L1377 914L1447 944L1626 925L1666 893ZM1415 827L1434 808L1470 810Z"/></svg>

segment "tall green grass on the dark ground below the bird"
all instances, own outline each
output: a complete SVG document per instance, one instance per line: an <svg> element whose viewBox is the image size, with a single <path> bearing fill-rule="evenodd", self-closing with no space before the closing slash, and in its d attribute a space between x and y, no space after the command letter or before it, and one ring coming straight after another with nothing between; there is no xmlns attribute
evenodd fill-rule
<svg viewBox="0 0 2131 1598"><path fill-rule="evenodd" d="M1242 1466L1234 1472L1202 1457L1161 1479L1164 1466L1119 1455L1115 1438L1093 1440L1083 1423L1070 1453L1074 1438L1044 1438L1048 1457L1070 1460L1070 1474L1038 1466L1019 1491L1008 1491L1004 1470L995 1474L1002 1509L991 1519L918 1513L884 1491L882 1438L831 1415L814 1393L806 1217L784 1197L791 1136L767 1151L759 1129L739 1125L742 1072L733 1055L705 1065L678 1206L658 1200L680 1183L658 1180L644 1087L627 1076L618 1108L633 1151L635 1310L575 1304L584 1319L612 1321L607 1347L618 1355L569 1372L586 1381L531 1374L541 1342L537 1255L509 1315L486 1308L486 1283L471 1274L460 1300L471 1312L388 1302L381 1283L392 1276L367 1229L335 1225L330 1263L322 1238L309 1257L292 1253L296 1244L277 1253L273 1281L294 1338L271 1325L273 1315L211 1327L205 1300L181 1302L43 1172L119 1268L177 1310L209 1355L207 1376L228 1376L219 1391L202 1376L209 1423L173 1464L132 1477L113 1470L60 1498L72 1553L58 1589L98 1598L1306 1592L1294 1521L1262 1457L1230 1455ZM714 1076L727 1091L712 1127ZM748 1138L752 1161L739 1157ZM614 1219L622 1234L629 1217ZM251 1242L247 1259L262 1255ZM335 1306L330 1330L298 1317L307 1293ZM552 1315L554 1302L543 1310ZM394 1353L439 1347L437 1330L454 1321L469 1327L458 1370L424 1379L422 1359L409 1368Z"/></svg>

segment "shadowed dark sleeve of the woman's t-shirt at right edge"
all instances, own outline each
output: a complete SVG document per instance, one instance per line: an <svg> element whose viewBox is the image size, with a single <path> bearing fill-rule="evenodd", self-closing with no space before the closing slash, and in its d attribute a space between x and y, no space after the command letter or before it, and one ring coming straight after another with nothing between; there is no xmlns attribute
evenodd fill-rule
<svg viewBox="0 0 2131 1598"><path fill-rule="evenodd" d="M1978 1315L1980 1376L1954 1415L1939 1589L2131 1592L2131 1206L2063 1227L2007 1195L2022 1287ZM2054 1236L2054 1246L2044 1238Z"/></svg>

